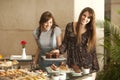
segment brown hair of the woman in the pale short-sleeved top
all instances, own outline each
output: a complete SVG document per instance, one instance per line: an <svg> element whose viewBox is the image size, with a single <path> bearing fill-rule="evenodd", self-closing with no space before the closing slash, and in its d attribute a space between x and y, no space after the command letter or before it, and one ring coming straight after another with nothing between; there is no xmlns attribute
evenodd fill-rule
<svg viewBox="0 0 120 80"><path fill-rule="evenodd" d="M38 33L38 38L39 38L39 36L40 36L40 34L41 34L41 28L42 28L42 26L44 25L44 23L45 22L47 22L48 20L50 20L52 18L52 20L53 20L53 25L52 25L52 33L51 33L51 37L52 37L52 35L54 34L54 28L57 26L57 24L56 24L56 22L55 22L55 19L54 19L54 17L53 17L53 15L52 15L52 13L51 12L49 12L49 11L46 11L46 12L44 12L42 15L41 15L41 17L40 17L40 21L39 21L39 33Z"/></svg>

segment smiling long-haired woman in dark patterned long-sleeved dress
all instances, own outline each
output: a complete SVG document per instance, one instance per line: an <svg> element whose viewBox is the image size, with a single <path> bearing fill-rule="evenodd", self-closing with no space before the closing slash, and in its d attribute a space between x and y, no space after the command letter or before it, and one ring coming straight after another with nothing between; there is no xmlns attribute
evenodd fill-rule
<svg viewBox="0 0 120 80"><path fill-rule="evenodd" d="M69 67L77 65L80 69L90 68L98 71L99 65L96 55L96 26L95 13L86 7L79 15L78 22L70 22L65 29L64 40L59 47L60 53L67 51Z"/></svg>

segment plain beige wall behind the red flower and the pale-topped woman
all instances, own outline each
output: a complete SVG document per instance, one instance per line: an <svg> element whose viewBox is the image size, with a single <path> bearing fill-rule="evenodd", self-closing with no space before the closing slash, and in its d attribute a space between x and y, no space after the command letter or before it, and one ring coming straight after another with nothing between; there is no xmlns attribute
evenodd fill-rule
<svg viewBox="0 0 120 80"><path fill-rule="evenodd" d="M21 40L27 41L27 54L35 54L37 45L32 33L41 14L51 11L64 31L66 23L73 20L73 3L73 0L0 0L0 54L4 57L21 54Z"/></svg>

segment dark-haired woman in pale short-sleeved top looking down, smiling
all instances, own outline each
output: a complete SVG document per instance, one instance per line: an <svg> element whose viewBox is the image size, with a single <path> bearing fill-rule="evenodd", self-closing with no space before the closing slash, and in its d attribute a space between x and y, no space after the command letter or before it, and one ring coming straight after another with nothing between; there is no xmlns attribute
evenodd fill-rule
<svg viewBox="0 0 120 80"><path fill-rule="evenodd" d="M41 58L41 56L45 56L45 53L58 49L62 43L61 29L56 24L51 12L46 11L41 15L39 27L34 30L34 37L38 44L38 50L33 63L36 64L38 61L40 68L44 70L53 63L57 64L57 62L44 61Z"/></svg>

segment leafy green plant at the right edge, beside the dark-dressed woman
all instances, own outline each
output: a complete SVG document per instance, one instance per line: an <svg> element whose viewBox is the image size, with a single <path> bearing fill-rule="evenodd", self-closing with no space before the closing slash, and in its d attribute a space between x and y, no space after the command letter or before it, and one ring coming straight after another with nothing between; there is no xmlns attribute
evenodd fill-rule
<svg viewBox="0 0 120 80"><path fill-rule="evenodd" d="M105 21L105 67L96 80L120 80L120 26Z"/></svg>

